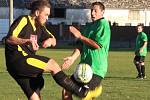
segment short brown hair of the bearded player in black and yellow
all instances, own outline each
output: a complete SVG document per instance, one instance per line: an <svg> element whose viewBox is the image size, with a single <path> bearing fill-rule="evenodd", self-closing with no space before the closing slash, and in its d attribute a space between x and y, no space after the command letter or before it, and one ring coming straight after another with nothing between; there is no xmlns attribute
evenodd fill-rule
<svg viewBox="0 0 150 100"><path fill-rule="evenodd" d="M36 0L30 5L31 14L36 10L42 10L44 7L51 8L50 2L48 0Z"/></svg>

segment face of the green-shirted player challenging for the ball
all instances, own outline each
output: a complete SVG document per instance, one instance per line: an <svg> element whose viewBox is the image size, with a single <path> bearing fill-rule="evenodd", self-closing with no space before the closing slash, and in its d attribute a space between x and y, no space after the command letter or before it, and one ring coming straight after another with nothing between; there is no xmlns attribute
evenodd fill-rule
<svg viewBox="0 0 150 100"><path fill-rule="evenodd" d="M103 17L104 10L101 10L99 5L94 5L91 9L91 18L92 21L96 21Z"/></svg>

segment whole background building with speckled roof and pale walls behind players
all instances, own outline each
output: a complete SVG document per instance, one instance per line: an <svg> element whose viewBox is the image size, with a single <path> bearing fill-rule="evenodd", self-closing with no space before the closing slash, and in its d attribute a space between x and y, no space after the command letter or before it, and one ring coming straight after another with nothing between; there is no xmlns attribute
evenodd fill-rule
<svg viewBox="0 0 150 100"><path fill-rule="evenodd" d="M21 14L28 14L26 9L34 0L14 0L14 19ZM149 26L149 0L50 0L52 4L51 16L48 22L58 26L59 35L63 34L63 25L84 25L91 22L90 5L100 1L106 6L104 17L111 25L136 26L139 23ZM0 40L9 29L9 0L0 0Z"/></svg>

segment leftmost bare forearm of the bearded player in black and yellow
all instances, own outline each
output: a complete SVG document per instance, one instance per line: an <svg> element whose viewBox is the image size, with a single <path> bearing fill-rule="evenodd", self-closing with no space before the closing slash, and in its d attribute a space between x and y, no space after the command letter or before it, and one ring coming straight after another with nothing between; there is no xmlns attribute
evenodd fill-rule
<svg viewBox="0 0 150 100"><path fill-rule="evenodd" d="M10 36L9 38L6 39L6 42L13 44L13 45L21 45L21 44L30 44L31 40Z"/></svg>

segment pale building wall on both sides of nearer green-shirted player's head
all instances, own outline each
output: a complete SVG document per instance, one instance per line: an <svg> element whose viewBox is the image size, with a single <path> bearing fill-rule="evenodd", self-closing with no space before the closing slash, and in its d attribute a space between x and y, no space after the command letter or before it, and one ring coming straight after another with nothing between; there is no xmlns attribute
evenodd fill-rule
<svg viewBox="0 0 150 100"><path fill-rule="evenodd" d="M134 11L134 10L133 10ZM139 23L143 23L145 26L149 26L150 23L150 10L135 10L138 16L134 15L132 10L129 9L106 9L104 17L113 22L117 22L119 26L136 26ZM133 16L134 15L134 16ZM134 17L137 17L134 19ZM49 20L52 24L59 24L65 22L71 25L73 22L79 24L85 24L91 21L91 10L90 9L67 9L66 19L55 19Z"/></svg>

